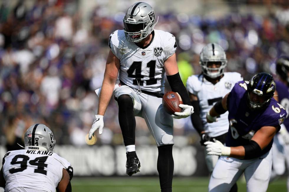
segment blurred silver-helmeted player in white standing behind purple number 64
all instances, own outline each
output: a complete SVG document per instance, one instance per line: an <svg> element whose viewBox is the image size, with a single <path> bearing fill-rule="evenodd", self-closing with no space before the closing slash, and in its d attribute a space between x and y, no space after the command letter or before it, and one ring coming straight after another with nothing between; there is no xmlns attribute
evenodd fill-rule
<svg viewBox="0 0 289 192"><path fill-rule="evenodd" d="M227 65L226 54L222 47L215 43L207 44L200 53L202 74L190 76L187 80L187 89L194 113L191 115L193 126L201 136L201 144L216 139L225 143L229 122L228 113L221 114L218 121L207 123L206 114L217 102L228 94L235 83L242 81L241 74L224 72ZM212 173L219 156L206 155L206 164ZM234 185L231 191L237 191Z"/></svg>

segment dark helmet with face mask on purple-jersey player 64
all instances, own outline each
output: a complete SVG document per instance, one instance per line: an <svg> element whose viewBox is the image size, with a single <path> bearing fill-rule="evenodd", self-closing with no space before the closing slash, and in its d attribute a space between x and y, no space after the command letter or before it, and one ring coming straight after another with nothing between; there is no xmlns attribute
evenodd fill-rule
<svg viewBox="0 0 289 192"><path fill-rule="evenodd" d="M274 96L276 84L273 77L265 72L252 77L247 90L247 104L251 110L267 107Z"/></svg>

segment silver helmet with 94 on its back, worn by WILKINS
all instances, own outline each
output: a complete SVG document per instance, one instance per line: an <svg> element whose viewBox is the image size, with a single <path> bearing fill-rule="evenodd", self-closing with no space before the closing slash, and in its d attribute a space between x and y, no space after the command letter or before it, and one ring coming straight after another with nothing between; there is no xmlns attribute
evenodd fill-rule
<svg viewBox="0 0 289 192"><path fill-rule="evenodd" d="M25 149L52 151L55 139L52 131L44 124L30 126L24 135Z"/></svg>

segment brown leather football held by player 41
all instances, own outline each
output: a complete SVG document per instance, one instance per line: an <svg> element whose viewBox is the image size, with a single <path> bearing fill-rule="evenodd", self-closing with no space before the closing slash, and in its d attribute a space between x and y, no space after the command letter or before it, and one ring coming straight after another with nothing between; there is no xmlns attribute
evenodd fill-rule
<svg viewBox="0 0 289 192"><path fill-rule="evenodd" d="M179 107L179 104L183 104L183 100L176 92L166 92L162 97L162 105L170 115L173 115L175 112L182 112L183 109Z"/></svg>

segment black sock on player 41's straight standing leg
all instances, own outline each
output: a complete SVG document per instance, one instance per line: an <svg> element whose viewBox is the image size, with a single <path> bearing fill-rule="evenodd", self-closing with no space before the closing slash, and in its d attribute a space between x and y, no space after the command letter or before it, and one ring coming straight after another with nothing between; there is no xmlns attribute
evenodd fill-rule
<svg viewBox="0 0 289 192"><path fill-rule="evenodd" d="M157 171L160 177L161 192L172 192L174 173L173 145L164 145L157 148L159 151Z"/></svg>

